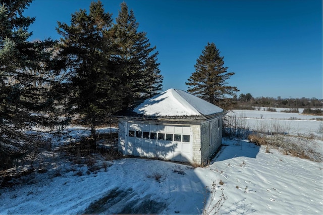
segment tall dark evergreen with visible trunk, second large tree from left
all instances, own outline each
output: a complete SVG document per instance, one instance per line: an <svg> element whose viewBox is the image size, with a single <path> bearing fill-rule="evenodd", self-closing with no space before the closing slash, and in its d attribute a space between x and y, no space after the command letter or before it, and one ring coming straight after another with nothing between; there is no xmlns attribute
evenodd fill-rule
<svg viewBox="0 0 323 215"><path fill-rule="evenodd" d="M112 109L114 93L111 63L111 14L105 13L100 1L86 10L75 12L71 25L58 22L62 35L59 58L67 71L66 89L70 93L70 114L78 114L90 124L92 147L95 147L98 121Z"/></svg>

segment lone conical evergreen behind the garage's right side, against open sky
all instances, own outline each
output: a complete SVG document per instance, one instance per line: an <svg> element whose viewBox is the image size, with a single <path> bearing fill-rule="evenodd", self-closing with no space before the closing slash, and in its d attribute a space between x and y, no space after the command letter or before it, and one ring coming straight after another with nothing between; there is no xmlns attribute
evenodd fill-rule
<svg viewBox="0 0 323 215"><path fill-rule="evenodd" d="M237 87L228 86L227 80L234 75L224 67L224 57L214 43L207 43L202 55L196 60L195 72L192 73L186 85L188 92L217 105L228 105L226 96L234 96Z"/></svg>

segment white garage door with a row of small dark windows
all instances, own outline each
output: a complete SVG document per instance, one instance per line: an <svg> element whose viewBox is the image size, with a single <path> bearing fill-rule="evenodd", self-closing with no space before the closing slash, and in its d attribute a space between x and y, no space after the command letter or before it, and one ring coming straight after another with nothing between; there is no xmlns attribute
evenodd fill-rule
<svg viewBox="0 0 323 215"><path fill-rule="evenodd" d="M127 154L192 162L190 126L129 123Z"/></svg>

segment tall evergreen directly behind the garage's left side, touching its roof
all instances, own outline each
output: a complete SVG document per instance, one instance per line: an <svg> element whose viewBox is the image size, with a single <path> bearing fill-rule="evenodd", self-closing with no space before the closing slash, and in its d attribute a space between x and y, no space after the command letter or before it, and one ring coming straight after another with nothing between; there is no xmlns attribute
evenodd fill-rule
<svg viewBox="0 0 323 215"><path fill-rule="evenodd" d="M150 47L145 32L138 32L139 24L126 3L112 29L114 41L113 60L116 63L116 89L120 92L122 107L151 97L162 88L163 77L157 63L156 47Z"/></svg>

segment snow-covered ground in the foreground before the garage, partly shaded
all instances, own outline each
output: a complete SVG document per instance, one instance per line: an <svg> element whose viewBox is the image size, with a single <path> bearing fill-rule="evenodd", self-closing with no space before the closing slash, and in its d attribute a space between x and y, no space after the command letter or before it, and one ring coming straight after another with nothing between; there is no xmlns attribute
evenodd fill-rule
<svg viewBox="0 0 323 215"><path fill-rule="evenodd" d="M211 201L205 187L213 182L217 184L216 200L221 188L228 197L220 213L323 213L322 163L283 155L275 149L265 153L264 147L244 141L223 143L210 166L195 169L160 160L123 158L110 162L106 172L100 169L87 175L86 166L57 158L56 169L25 176L19 179L20 185L2 188L0 213L82 213L91 202L118 188L128 195L115 203L118 207L103 213L117 213L134 201L149 198L165 203L159 213L201 214L204 198L206 204ZM60 176L55 175L58 170ZM153 177L156 173L161 175L158 181Z"/></svg>

